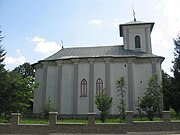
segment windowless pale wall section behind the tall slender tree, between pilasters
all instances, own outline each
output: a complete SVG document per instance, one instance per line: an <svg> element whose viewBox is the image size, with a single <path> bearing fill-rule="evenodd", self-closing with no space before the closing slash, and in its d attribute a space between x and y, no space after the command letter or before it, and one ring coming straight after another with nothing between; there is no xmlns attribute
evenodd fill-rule
<svg viewBox="0 0 180 135"><path fill-rule="evenodd" d="M116 81L124 76L125 77L125 82L126 82L126 87L127 87L127 64L126 63L111 63L110 66L110 75L111 75L111 96L113 97L113 106L112 106L112 114L119 114L118 111L118 97L117 97L117 89L116 89ZM128 92L128 91L127 91ZM127 95L126 93L126 105L128 105L128 100L127 100Z"/></svg>

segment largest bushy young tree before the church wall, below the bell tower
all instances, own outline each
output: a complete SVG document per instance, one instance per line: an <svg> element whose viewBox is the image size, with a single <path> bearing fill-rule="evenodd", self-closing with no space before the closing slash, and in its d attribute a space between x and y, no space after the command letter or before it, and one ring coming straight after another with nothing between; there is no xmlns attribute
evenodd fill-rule
<svg viewBox="0 0 180 135"><path fill-rule="evenodd" d="M149 79L147 90L140 99L140 107L146 112L148 119L153 120L162 103L161 86L158 84L157 75Z"/></svg>

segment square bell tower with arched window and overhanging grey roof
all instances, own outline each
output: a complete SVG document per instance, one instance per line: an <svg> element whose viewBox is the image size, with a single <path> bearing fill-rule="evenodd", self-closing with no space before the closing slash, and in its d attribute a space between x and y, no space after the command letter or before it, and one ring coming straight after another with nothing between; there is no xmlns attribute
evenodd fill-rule
<svg viewBox="0 0 180 135"><path fill-rule="evenodd" d="M151 31L154 23L134 21L120 24L120 37L123 37L124 49L152 54Z"/></svg>

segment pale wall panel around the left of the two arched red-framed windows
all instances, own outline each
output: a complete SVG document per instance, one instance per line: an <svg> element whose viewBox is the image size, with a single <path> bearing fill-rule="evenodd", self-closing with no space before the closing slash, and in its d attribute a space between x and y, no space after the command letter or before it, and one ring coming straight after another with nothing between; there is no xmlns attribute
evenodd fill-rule
<svg viewBox="0 0 180 135"><path fill-rule="evenodd" d="M78 114L87 114L89 111L89 63L79 63L78 77ZM81 81L87 81L87 97L81 97Z"/></svg>

